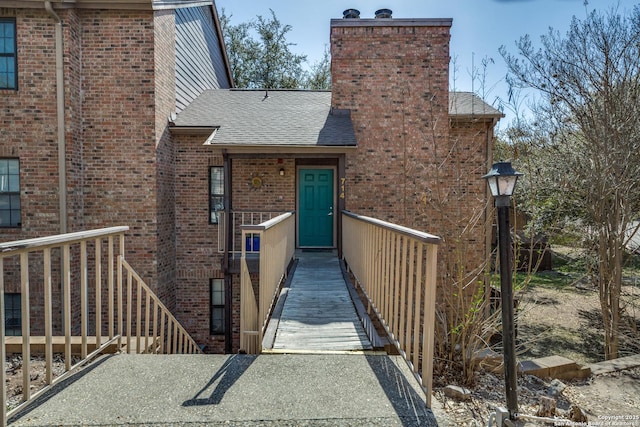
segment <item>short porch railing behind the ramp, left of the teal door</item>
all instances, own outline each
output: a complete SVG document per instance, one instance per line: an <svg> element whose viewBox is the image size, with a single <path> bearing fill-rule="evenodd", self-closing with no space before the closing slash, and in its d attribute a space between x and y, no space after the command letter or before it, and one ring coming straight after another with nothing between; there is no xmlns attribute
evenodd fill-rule
<svg viewBox="0 0 640 427"><path fill-rule="evenodd" d="M262 224L265 221L282 215L283 212L258 212L258 211L231 211L229 215L226 212L218 213L218 252L229 253L231 259L239 259L242 255L242 249L254 251L254 244L252 236L249 236L251 240L247 242L242 237L242 225L256 225ZM228 241L228 233L231 231L231 240Z"/></svg>

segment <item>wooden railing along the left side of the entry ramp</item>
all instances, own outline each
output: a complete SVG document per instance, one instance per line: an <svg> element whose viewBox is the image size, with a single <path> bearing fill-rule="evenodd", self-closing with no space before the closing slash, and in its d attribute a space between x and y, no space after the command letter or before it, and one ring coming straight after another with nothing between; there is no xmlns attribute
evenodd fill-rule
<svg viewBox="0 0 640 427"><path fill-rule="evenodd" d="M295 253L295 215L282 214L259 225L243 225L242 241L248 236L259 239L258 283L254 283L242 247L240 267L240 349L248 354L262 351L262 338L269 321L280 284ZM258 290L257 295L255 289Z"/></svg>

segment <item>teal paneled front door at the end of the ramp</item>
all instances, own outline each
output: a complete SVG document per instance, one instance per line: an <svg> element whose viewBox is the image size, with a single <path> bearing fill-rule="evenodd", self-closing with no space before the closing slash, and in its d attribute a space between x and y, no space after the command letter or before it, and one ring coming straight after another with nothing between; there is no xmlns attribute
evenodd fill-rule
<svg viewBox="0 0 640 427"><path fill-rule="evenodd" d="M333 169L300 169L298 182L298 244L333 247Z"/></svg>

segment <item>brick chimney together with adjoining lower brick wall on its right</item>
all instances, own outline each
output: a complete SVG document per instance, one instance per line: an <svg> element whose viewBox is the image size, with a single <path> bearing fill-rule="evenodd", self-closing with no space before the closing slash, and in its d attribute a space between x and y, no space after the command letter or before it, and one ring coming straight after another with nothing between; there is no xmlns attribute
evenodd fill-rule
<svg viewBox="0 0 640 427"><path fill-rule="evenodd" d="M358 139L346 158L346 207L441 236L441 297L460 279L453 273L469 280L486 259L480 177L493 126L449 118L449 27L337 20L331 28L332 105L351 109ZM482 286L470 282L465 293Z"/></svg>

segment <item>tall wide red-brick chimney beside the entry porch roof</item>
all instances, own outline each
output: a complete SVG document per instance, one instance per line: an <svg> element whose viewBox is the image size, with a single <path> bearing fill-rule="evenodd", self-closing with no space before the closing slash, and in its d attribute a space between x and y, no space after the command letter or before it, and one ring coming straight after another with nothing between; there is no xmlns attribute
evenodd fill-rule
<svg viewBox="0 0 640 427"><path fill-rule="evenodd" d="M407 200L424 191L413 188L415 174L449 132L452 20L378 12L331 20L332 106L351 110L358 140L346 159L346 206L410 226L417 208Z"/></svg>

